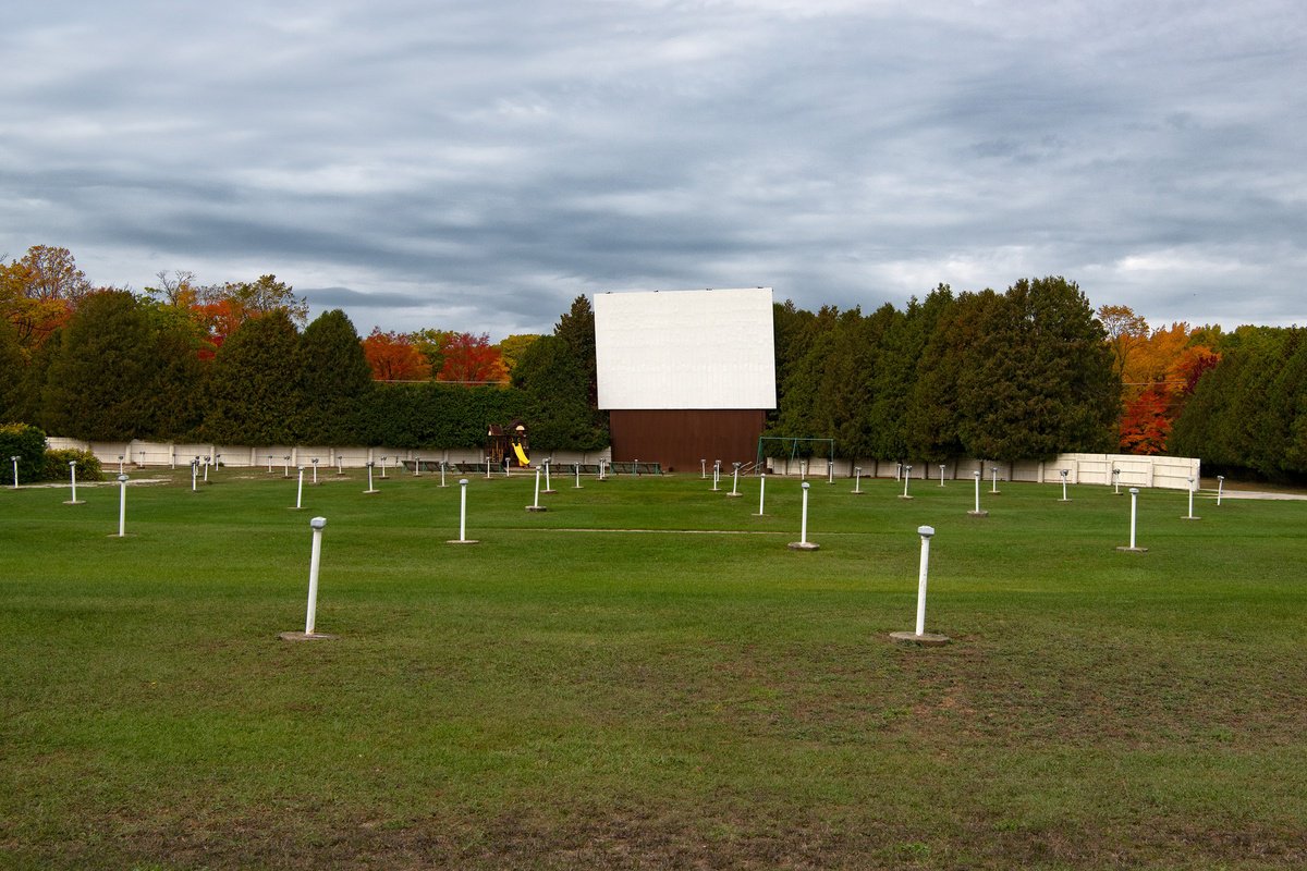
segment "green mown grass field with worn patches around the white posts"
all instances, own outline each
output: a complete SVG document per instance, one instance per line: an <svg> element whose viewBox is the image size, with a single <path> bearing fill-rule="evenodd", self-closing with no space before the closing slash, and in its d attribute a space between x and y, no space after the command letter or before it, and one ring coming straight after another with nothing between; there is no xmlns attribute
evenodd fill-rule
<svg viewBox="0 0 1307 871"><path fill-rule="evenodd" d="M0 867L1307 866L1307 503L175 474L0 492Z"/></svg>

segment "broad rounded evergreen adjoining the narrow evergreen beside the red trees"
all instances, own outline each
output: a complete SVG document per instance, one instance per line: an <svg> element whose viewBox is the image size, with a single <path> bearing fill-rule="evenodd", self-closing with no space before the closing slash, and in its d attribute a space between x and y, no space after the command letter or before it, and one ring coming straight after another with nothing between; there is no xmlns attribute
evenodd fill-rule
<svg viewBox="0 0 1307 871"><path fill-rule="evenodd" d="M220 444L286 444L302 417L299 333L284 311L244 321L218 349L203 432Z"/></svg>

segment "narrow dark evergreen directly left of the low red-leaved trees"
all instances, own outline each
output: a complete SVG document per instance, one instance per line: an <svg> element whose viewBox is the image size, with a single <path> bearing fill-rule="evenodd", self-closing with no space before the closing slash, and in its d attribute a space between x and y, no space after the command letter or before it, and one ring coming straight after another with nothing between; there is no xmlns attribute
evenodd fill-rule
<svg viewBox="0 0 1307 871"><path fill-rule="evenodd" d="M359 409L372 370L354 324L341 309L323 312L299 340L303 418L299 437L314 444L361 444Z"/></svg>

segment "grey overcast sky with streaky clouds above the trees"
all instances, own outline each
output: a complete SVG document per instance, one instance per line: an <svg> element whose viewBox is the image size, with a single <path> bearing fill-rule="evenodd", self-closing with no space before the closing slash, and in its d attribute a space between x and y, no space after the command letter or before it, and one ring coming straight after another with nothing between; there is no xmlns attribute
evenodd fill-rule
<svg viewBox="0 0 1307 871"><path fill-rule="evenodd" d="M359 333L578 294L1077 281L1307 324L1302 0L10 4L0 255L274 273Z"/></svg>

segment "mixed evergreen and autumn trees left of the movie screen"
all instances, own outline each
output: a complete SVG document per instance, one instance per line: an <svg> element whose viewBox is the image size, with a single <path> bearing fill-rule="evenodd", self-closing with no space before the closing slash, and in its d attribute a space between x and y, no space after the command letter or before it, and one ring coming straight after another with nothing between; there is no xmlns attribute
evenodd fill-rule
<svg viewBox="0 0 1307 871"><path fill-rule="evenodd" d="M586 296L514 349L511 372L485 337L429 330L448 377L387 383L342 311L305 325L307 303L273 276L161 283L91 287L42 247L0 268L0 420L90 441L478 448L489 423L523 419L535 447L608 444Z"/></svg>

